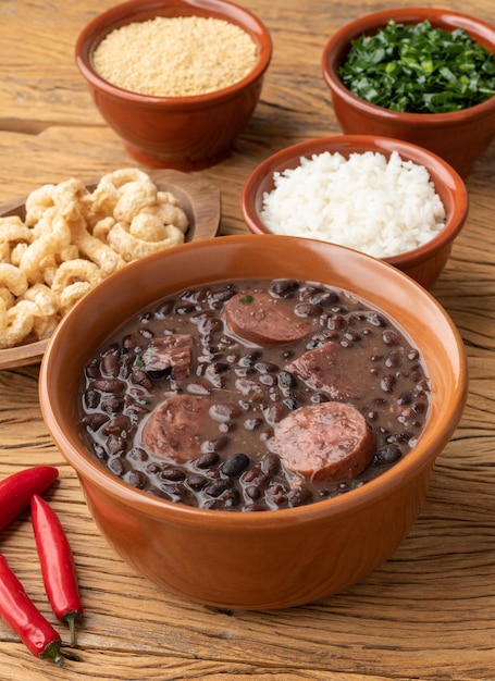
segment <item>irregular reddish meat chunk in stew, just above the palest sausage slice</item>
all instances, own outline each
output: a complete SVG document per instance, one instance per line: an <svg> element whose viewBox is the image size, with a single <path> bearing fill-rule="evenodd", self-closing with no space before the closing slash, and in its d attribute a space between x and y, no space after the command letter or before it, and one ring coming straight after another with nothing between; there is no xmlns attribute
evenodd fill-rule
<svg viewBox="0 0 495 681"><path fill-rule="evenodd" d="M352 361L351 354L330 340L314 350L308 350L284 369L297 375L313 391L323 391L332 399L344 400L360 394L360 386L352 385L350 380L350 376L356 376L356 372L348 371L349 360Z"/></svg>

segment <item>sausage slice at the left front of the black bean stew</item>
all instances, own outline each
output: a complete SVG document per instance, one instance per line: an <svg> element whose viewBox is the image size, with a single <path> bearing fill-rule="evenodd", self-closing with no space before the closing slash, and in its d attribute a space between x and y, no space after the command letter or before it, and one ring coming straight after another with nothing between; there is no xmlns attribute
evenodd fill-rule
<svg viewBox="0 0 495 681"><path fill-rule="evenodd" d="M210 403L196 395L174 395L150 414L143 429L145 449L157 457L189 461L201 455L201 438Z"/></svg>

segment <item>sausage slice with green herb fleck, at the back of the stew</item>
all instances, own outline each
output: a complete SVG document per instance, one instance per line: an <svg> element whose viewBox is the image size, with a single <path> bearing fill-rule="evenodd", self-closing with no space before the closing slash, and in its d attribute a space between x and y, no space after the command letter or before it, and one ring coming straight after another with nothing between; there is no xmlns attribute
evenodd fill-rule
<svg viewBox="0 0 495 681"><path fill-rule="evenodd" d="M294 304L268 292L236 294L225 307L228 329L257 345L293 343L302 338L311 322L294 313Z"/></svg>

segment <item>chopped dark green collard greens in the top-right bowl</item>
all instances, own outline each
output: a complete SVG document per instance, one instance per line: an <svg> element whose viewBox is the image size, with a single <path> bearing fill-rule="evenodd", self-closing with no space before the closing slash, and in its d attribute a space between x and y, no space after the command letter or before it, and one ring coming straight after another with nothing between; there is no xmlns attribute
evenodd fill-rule
<svg viewBox="0 0 495 681"><path fill-rule="evenodd" d="M338 75L360 99L409 113L459 111L495 95L495 55L463 28L450 33L429 21L389 21L352 40Z"/></svg>

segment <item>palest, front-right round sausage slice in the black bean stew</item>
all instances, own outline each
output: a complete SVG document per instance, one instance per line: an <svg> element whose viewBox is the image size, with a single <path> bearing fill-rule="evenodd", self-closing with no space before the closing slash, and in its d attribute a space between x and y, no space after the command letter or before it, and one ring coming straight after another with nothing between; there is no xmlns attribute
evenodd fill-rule
<svg viewBox="0 0 495 681"><path fill-rule="evenodd" d="M375 439L352 405L329 401L296 409L275 428L272 448L285 466L311 480L336 482L370 463Z"/></svg>

